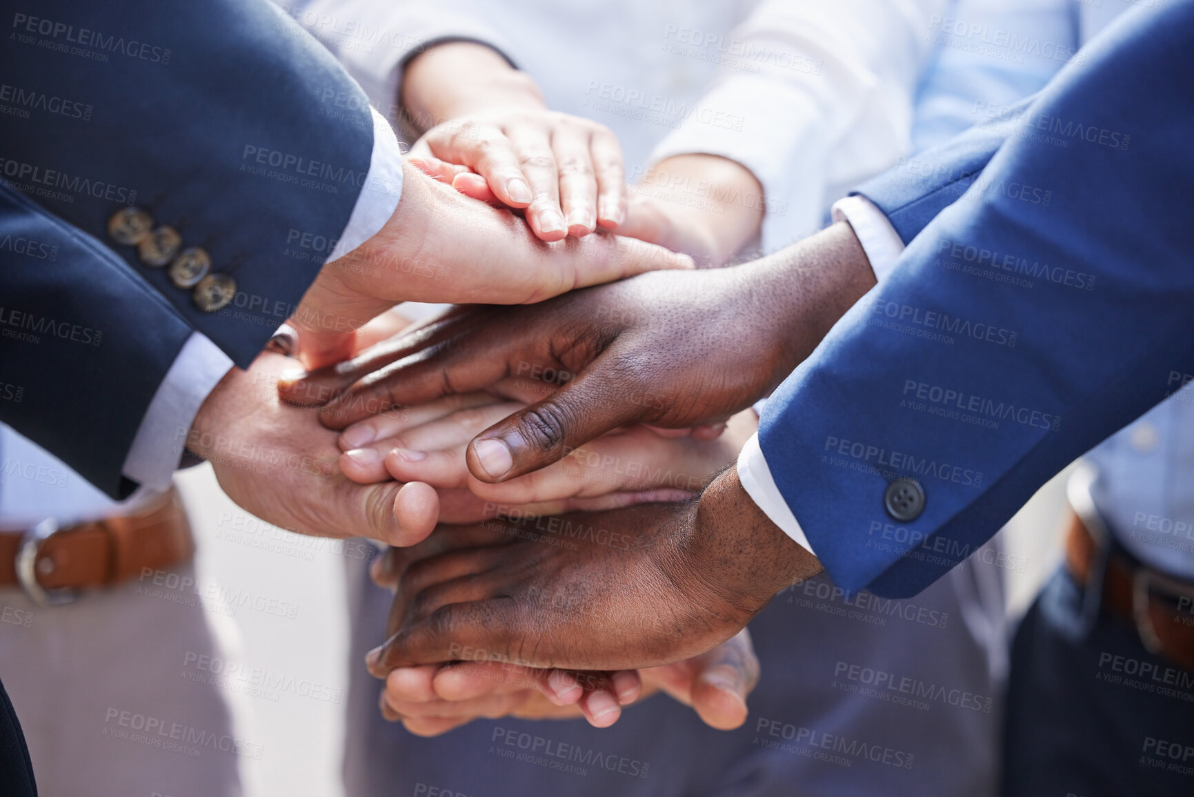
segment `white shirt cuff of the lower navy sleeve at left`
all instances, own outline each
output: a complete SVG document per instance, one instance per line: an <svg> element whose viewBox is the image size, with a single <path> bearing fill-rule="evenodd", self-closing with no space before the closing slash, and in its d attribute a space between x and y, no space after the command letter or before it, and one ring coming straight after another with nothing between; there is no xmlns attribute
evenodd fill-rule
<svg viewBox="0 0 1194 797"><path fill-rule="evenodd" d="M193 332L158 386L133 439L122 472L153 490L165 490L183 456L186 435L199 406L233 367L205 335Z"/></svg>

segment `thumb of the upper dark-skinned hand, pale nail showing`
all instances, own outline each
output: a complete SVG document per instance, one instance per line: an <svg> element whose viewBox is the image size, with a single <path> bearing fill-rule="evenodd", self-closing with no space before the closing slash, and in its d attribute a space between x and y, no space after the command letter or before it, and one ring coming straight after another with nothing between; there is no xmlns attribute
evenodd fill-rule
<svg viewBox="0 0 1194 797"><path fill-rule="evenodd" d="M466 452L473 476L490 484L505 482L558 462L607 431L636 423L648 410L626 400L629 386L615 384L602 367L609 357L602 355L552 396L474 437Z"/></svg>

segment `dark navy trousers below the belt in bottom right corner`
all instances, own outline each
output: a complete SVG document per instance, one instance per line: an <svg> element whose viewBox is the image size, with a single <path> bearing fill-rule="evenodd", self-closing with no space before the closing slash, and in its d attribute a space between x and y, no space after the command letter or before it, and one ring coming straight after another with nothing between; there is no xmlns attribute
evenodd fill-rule
<svg viewBox="0 0 1194 797"><path fill-rule="evenodd" d="M1059 571L1016 632L1004 795L1194 795L1194 670L1150 654L1121 618L1084 624L1082 601Z"/></svg>

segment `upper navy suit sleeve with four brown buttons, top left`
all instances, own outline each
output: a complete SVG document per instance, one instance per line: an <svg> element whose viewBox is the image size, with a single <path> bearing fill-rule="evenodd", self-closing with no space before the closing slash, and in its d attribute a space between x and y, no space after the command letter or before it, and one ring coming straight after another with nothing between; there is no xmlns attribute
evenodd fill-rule
<svg viewBox="0 0 1194 797"><path fill-rule="evenodd" d="M364 93L265 0L48 0L6 13L0 174L112 245L247 366L352 213L373 153ZM165 269L116 245L106 225L128 206L205 249L211 271L235 280L233 304L203 312Z"/></svg>

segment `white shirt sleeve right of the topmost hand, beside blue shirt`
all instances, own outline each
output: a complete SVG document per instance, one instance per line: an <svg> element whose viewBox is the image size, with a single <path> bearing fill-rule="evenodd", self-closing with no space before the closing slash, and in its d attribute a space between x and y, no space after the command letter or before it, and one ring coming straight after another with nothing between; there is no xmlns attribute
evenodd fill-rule
<svg viewBox="0 0 1194 797"><path fill-rule="evenodd" d="M817 232L833 200L907 154L929 33L948 5L762 2L722 48L744 55L700 100L740 127L689 116L652 160L700 152L750 168L767 197L764 252Z"/></svg>

